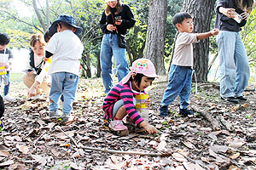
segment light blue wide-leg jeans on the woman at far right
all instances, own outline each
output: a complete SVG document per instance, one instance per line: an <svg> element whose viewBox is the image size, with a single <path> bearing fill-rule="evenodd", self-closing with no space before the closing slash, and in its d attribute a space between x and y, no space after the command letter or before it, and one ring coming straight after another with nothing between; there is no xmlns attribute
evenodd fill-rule
<svg viewBox="0 0 256 170"><path fill-rule="evenodd" d="M250 67L240 32L220 31L217 37L220 96L240 97L247 88Z"/></svg>

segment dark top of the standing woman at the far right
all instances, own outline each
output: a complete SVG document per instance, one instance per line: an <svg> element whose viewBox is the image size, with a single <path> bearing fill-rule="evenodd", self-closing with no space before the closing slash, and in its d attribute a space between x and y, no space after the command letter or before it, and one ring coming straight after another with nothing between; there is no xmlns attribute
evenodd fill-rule
<svg viewBox="0 0 256 170"><path fill-rule="evenodd" d="M247 23L247 20L242 20L240 24L236 22L236 20L233 20L226 15L220 13L218 11L218 8L224 7L224 8L235 8L233 5L232 0L219 0L215 11L216 11L216 20L215 20L215 28L218 28L220 31L241 31L241 26L245 26ZM241 14L243 13L243 10L241 8L235 8L236 13Z"/></svg>

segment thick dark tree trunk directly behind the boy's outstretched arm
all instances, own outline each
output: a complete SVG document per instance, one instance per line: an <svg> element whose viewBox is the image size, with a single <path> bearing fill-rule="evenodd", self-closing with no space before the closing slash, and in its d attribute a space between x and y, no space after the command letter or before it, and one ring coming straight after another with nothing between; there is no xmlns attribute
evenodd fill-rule
<svg viewBox="0 0 256 170"><path fill-rule="evenodd" d="M194 16L195 32L210 30L216 0L184 0L183 10ZM194 44L194 69L198 82L207 82L209 38Z"/></svg>

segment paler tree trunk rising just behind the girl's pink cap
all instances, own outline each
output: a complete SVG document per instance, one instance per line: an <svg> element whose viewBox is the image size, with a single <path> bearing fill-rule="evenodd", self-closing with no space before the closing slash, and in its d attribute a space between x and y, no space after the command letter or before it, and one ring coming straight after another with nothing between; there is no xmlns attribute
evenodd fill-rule
<svg viewBox="0 0 256 170"><path fill-rule="evenodd" d="M166 74L164 66L167 0L149 0L148 31L144 57L150 59L157 74Z"/></svg>

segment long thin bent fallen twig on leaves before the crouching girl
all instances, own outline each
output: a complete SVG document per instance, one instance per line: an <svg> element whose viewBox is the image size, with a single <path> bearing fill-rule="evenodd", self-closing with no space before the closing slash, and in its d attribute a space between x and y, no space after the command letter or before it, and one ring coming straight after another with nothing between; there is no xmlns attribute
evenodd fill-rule
<svg viewBox="0 0 256 170"><path fill-rule="evenodd" d="M139 156L170 156L172 154L170 152L148 153L148 152L120 151L120 150L108 150L108 149L88 147L88 146L84 146L82 144L77 144L77 142L72 137L70 137L67 133L65 133L61 127L56 127L56 128L61 130L62 133L64 133L69 139L71 139L73 141L73 144L75 144L76 147L84 149L84 150L97 150L97 151L108 152L111 154L125 154L125 155L139 155Z"/></svg>

